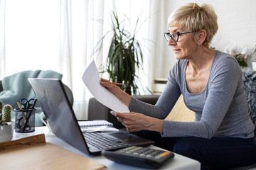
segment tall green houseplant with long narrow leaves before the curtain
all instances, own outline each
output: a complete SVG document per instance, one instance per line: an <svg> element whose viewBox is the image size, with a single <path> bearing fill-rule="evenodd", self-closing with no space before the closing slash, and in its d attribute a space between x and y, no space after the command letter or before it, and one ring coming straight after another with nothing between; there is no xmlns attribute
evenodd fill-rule
<svg viewBox="0 0 256 170"><path fill-rule="evenodd" d="M134 33L131 34L124 29L124 21L119 22L117 13L113 12L112 30L107 32L107 34L112 33L112 35L103 72L110 75L110 81L122 83L123 85L120 88L128 94L138 94L136 81L139 77L137 76L137 70L142 67L143 63L142 48L135 38L138 21L139 18ZM105 36L101 40L99 49L102 48Z"/></svg>

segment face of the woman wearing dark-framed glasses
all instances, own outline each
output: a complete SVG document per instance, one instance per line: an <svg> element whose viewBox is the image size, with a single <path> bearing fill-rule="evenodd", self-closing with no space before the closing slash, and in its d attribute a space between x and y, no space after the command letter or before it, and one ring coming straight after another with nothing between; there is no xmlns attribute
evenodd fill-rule
<svg viewBox="0 0 256 170"><path fill-rule="evenodd" d="M181 33L184 31L189 31L188 29L181 26L172 26L172 27L169 27L168 30L171 34L177 33L177 32ZM193 54L196 53L196 49L198 47L196 42L193 40L191 33L184 33L179 35L177 42L175 42L172 38L170 38L168 45L170 45L174 50L174 55L177 60L191 59Z"/></svg>

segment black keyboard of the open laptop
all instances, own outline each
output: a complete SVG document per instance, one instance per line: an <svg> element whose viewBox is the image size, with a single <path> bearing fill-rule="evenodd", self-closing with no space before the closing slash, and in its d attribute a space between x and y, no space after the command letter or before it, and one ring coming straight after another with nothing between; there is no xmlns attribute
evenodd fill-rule
<svg viewBox="0 0 256 170"><path fill-rule="evenodd" d="M83 132L82 134L88 144L97 147L98 149L114 149L129 146L124 142L106 137L100 132Z"/></svg>

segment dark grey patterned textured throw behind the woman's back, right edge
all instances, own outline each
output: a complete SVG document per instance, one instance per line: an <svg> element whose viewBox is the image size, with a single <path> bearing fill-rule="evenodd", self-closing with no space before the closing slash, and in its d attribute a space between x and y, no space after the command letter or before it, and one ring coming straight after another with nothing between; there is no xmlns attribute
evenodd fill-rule
<svg viewBox="0 0 256 170"><path fill-rule="evenodd" d="M252 118L252 122L256 126L256 72L251 69L246 69L242 72L242 81L245 86L250 118Z"/></svg>

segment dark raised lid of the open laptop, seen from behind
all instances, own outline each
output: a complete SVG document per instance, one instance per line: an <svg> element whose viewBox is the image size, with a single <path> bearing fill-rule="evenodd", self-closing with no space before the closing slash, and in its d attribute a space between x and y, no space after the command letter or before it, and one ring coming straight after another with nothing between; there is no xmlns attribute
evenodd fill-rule
<svg viewBox="0 0 256 170"><path fill-rule="evenodd" d="M59 79L29 78L50 129L60 139L90 154L72 106Z"/></svg>

